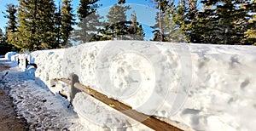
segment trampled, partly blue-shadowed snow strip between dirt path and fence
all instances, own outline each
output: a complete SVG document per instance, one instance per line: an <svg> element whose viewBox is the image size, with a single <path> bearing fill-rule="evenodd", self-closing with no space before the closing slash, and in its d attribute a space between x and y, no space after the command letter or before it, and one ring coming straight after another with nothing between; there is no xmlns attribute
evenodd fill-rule
<svg viewBox="0 0 256 131"><path fill-rule="evenodd" d="M2 63L4 60L1 59ZM6 62L14 66L14 62ZM48 88L42 88L31 76L19 67L1 71L0 88L14 99L18 117L24 117L30 130L86 130L79 117L70 108L69 102L60 95L52 94ZM15 124L15 123L14 123Z"/></svg>

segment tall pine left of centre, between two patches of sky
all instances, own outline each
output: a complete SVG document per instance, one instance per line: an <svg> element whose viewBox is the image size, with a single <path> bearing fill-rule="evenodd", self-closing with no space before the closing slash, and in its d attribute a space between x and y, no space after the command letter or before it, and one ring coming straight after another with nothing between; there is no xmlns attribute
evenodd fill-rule
<svg viewBox="0 0 256 131"><path fill-rule="evenodd" d="M80 0L78 16L79 29L73 32L73 40L79 43L87 43L95 40L95 36L100 31L102 17L96 13L96 9L101 5L98 0Z"/></svg>

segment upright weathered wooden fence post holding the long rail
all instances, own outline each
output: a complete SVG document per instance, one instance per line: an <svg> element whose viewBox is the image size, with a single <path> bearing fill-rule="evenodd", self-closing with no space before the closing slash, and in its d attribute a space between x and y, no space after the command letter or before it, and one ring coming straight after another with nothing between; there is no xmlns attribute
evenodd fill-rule
<svg viewBox="0 0 256 131"><path fill-rule="evenodd" d="M71 75L71 89L70 89L70 102L73 102L74 96L79 93L79 89L74 87L75 83L79 83L79 76L76 74Z"/></svg>

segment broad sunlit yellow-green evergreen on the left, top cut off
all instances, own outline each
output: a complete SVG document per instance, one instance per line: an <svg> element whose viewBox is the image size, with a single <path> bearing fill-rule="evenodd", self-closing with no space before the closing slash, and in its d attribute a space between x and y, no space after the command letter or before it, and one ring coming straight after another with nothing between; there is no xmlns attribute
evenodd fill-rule
<svg viewBox="0 0 256 131"><path fill-rule="evenodd" d="M18 40L22 50L59 48L55 33L53 0L20 0L18 9Z"/></svg>

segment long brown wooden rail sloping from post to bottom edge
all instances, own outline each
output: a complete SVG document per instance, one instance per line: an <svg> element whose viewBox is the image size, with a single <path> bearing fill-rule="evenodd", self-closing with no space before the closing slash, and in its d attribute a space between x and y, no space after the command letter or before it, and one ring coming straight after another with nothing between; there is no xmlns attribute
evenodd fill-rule
<svg viewBox="0 0 256 131"><path fill-rule="evenodd" d="M132 110L131 106L125 105L124 103L119 102L118 100L113 100L108 98L107 95L97 92L96 90L84 86L81 83L75 83L75 88L78 88L81 91L84 91L86 94L90 94L90 96L96 98L96 100L100 100L106 105L111 106L113 109L122 112L128 117L131 117L138 122L143 123L148 126L148 128L152 128L154 130L164 130L164 131L181 131L182 129L172 126L167 122L160 121L155 117L150 117L141 112Z"/></svg>

